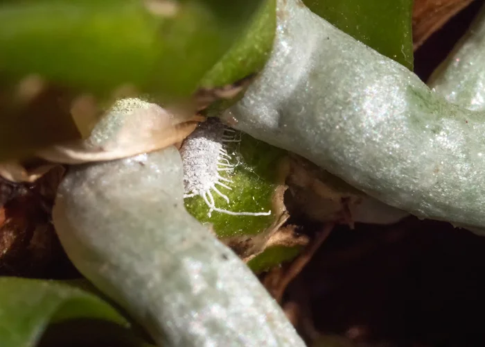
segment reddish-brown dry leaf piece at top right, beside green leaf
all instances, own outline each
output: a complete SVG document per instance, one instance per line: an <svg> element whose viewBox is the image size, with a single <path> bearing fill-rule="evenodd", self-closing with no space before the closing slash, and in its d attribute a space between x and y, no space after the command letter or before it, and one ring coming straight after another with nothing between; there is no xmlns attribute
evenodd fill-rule
<svg viewBox="0 0 485 347"><path fill-rule="evenodd" d="M416 0L412 16L414 50L473 0Z"/></svg>

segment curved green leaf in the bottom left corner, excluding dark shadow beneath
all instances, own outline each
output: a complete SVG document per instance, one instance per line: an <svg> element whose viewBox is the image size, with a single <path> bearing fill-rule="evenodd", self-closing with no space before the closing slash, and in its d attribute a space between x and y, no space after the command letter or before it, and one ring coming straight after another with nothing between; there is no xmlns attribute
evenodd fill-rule
<svg viewBox="0 0 485 347"><path fill-rule="evenodd" d="M116 325L114 330L130 336L123 316L87 291L54 281L0 278L0 346L37 346L49 324L73 320Z"/></svg>

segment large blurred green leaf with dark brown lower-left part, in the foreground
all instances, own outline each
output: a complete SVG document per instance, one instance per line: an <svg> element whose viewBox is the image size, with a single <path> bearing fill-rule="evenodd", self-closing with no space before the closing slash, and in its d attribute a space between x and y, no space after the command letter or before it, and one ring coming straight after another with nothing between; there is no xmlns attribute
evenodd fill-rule
<svg viewBox="0 0 485 347"><path fill-rule="evenodd" d="M2 1L0 160L80 137L72 108L92 117L127 94L147 93L159 101L192 94L262 5Z"/></svg>

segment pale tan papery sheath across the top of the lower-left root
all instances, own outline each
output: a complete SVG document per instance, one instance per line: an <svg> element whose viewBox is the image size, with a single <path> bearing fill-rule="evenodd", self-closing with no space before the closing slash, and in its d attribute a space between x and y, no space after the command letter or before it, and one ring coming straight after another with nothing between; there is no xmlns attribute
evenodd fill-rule
<svg viewBox="0 0 485 347"><path fill-rule="evenodd" d="M181 142L204 120L200 115L186 117L186 112L171 112L141 99L120 99L107 110L87 139L51 146L37 155L62 164L129 158ZM100 136L99 129L105 127L109 128L109 135Z"/></svg>

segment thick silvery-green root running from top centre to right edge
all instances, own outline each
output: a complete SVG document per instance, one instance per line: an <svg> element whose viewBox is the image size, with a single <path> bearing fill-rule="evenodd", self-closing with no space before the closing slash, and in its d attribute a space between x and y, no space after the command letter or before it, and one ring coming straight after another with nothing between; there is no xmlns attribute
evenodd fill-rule
<svg viewBox="0 0 485 347"><path fill-rule="evenodd" d="M485 227L485 115L397 62L278 1L272 56L223 117L418 217Z"/></svg>

